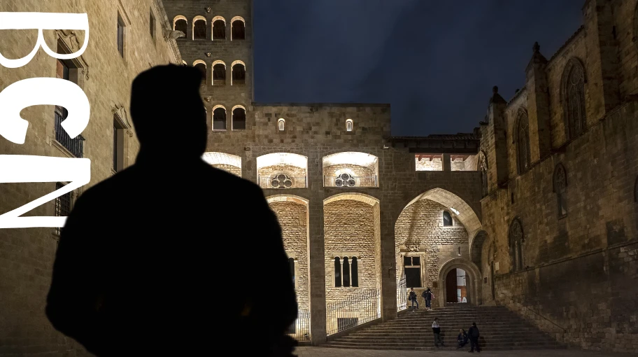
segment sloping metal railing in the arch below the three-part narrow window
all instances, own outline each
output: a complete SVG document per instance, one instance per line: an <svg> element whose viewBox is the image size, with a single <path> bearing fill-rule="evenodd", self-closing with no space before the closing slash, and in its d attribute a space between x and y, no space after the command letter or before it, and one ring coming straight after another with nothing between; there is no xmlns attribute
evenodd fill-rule
<svg viewBox="0 0 638 357"><path fill-rule="evenodd" d="M378 289L355 289L355 295L326 304L327 334L333 335L381 318Z"/></svg>

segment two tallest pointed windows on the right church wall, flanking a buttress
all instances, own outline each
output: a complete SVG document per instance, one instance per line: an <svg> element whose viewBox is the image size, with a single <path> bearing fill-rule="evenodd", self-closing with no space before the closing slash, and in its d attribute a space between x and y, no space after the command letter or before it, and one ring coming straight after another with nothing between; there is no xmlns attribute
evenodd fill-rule
<svg viewBox="0 0 638 357"><path fill-rule="evenodd" d="M585 83L585 66L577 58L569 59L562 73L560 87L560 101L564 111L567 141L578 137L587 128ZM531 167L530 124L525 109L519 109L516 114L514 136L516 167L518 174L524 174Z"/></svg>

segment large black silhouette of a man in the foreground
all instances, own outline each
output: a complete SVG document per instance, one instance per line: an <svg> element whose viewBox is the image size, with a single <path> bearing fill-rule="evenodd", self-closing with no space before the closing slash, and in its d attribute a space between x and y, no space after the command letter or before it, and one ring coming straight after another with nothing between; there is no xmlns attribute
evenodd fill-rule
<svg viewBox="0 0 638 357"><path fill-rule="evenodd" d="M137 160L62 229L46 314L97 356L292 356L281 228L258 186L201 160L200 83L173 65L134 80Z"/></svg>

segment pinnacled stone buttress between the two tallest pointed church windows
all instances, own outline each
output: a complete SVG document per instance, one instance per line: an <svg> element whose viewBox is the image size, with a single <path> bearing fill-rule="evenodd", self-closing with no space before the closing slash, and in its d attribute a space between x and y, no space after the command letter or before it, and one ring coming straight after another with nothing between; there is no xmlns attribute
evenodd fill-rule
<svg viewBox="0 0 638 357"><path fill-rule="evenodd" d="M527 64L527 118L530 120L531 162L551 155L551 116L545 67L547 59L541 55L541 46L534 43L530 63Z"/></svg>

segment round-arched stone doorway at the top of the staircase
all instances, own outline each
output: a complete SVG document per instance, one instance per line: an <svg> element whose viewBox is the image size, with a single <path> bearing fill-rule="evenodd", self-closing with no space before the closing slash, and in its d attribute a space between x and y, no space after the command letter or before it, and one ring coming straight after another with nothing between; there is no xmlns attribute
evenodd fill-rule
<svg viewBox="0 0 638 357"><path fill-rule="evenodd" d="M470 260L462 258L449 260L439 269L439 281L443 287L438 296L439 306L482 304L482 279L481 270ZM458 301L459 296L461 302Z"/></svg>

